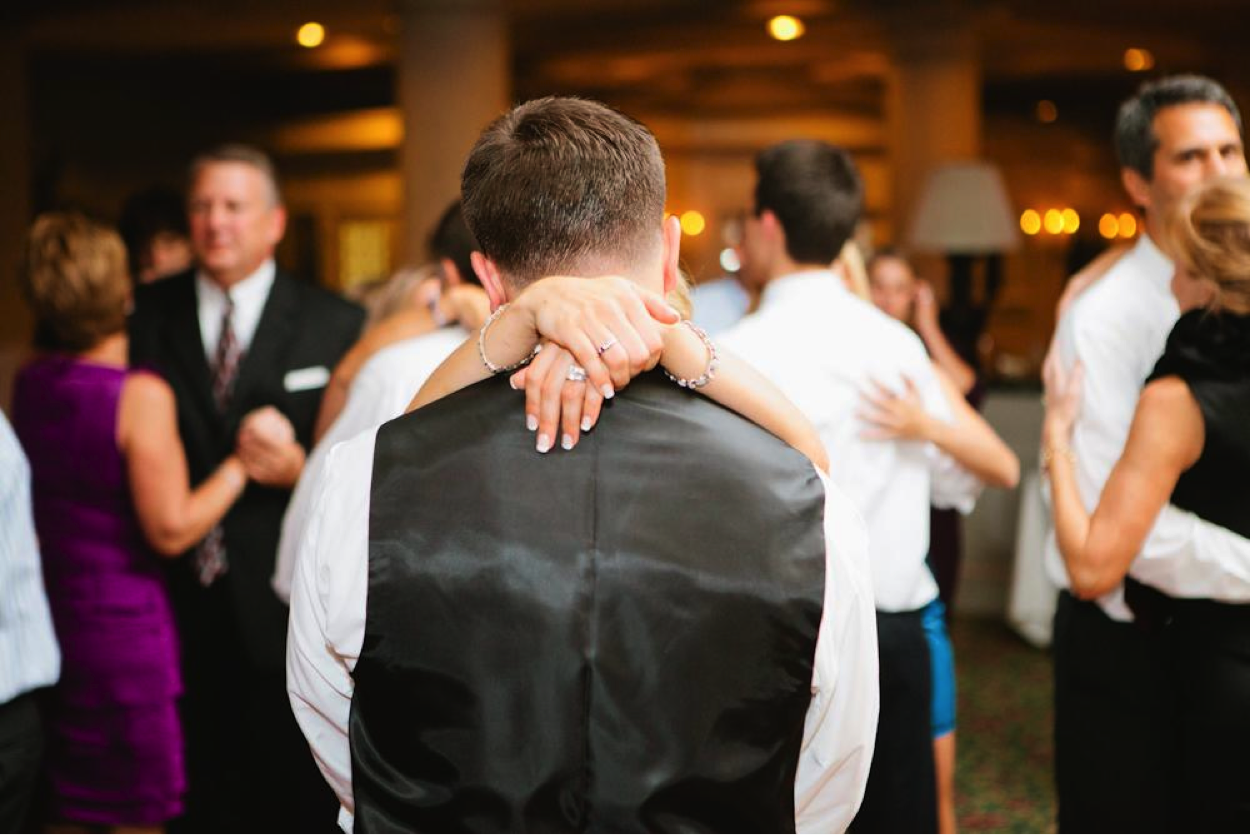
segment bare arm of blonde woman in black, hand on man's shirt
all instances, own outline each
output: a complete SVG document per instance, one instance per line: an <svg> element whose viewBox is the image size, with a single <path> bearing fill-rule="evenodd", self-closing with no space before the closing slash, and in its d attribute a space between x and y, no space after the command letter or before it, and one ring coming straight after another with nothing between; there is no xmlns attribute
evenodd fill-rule
<svg viewBox="0 0 1250 835"><path fill-rule="evenodd" d="M1049 395L1048 395L1049 396ZM1202 414L1179 378L1148 385L1138 401L1124 454L1111 470L1098 508L1081 504L1075 464L1068 451L1070 424L1046 416L1055 536L1072 594L1098 598L1119 585L1171 498L1181 474L1205 442Z"/></svg>

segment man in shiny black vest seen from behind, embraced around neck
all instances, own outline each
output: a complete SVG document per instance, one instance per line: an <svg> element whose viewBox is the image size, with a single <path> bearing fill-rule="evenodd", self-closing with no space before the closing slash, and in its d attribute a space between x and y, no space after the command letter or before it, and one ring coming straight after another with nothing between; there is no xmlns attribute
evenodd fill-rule
<svg viewBox="0 0 1250 835"><path fill-rule="evenodd" d="M468 349L488 370L529 355L568 282L628 289L584 352L646 366L680 228L645 128L530 101L461 185L496 305ZM556 272L625 278L539 280ZM495 378L330 455L289 686L345 830L845 829L876 706L845 500L659 374L561 455L534 454L518 406Z"/></svg>

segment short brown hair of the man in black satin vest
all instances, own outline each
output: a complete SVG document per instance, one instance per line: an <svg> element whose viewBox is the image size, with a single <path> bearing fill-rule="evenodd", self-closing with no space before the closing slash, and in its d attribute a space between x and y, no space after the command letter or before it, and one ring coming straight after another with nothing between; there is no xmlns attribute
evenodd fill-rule
<svg viewBox="0 0 1250 835"><path fill-rule="evenodd" d="M478 139L460 186L469 229L512 288L552 272L628 268L660 241L660 146L596 101L514 108Z"/></svg>

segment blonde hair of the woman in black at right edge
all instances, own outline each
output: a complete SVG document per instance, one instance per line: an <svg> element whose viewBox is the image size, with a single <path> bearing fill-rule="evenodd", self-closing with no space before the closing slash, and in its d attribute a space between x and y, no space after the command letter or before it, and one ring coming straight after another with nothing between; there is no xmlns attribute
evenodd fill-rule
<svg viewBox="0 0 1250 835"><path fill-rule="evenodd" d="M1165 241L1194 278L1214 285L1210 309L1250 314L1250 180L1200 186L1170 218Z"/></svg>

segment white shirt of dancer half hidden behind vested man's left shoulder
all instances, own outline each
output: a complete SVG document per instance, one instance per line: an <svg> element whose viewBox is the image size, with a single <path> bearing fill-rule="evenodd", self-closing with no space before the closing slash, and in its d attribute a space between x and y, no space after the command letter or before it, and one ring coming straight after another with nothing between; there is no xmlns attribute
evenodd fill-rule
<svg viewBox="0 0 1250 835"><path fill-rule="evenodd" d="M469 331L452 325L421 336L388 345L360 366L348 389L348 402L325 436L312 448L300 480L282 516L282 538L278 542L274 566L274 591L284 601L291 599L291 576L300 548L300 536L312 512L316 482L325 458L339 441L378 429L408 409L426 379L469 338Z"/></svg>

